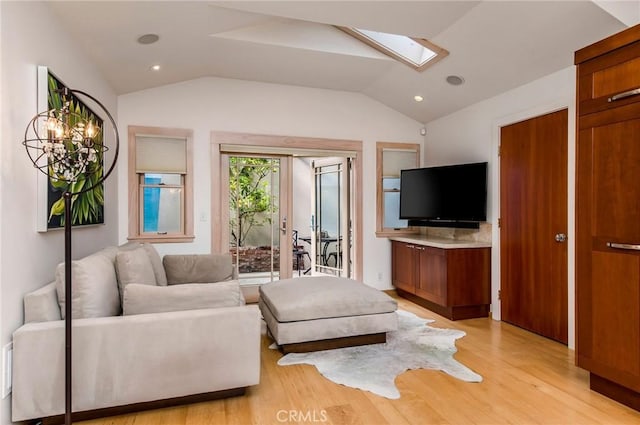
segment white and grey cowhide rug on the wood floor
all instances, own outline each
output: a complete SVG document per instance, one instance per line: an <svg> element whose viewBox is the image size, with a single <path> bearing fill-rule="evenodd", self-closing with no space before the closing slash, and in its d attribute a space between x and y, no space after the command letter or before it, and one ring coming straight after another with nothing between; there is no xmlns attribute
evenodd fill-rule
<svg viewBox="0 0 640 425"><path fill-rule="evenodd" d="M427 323L433 320L402 310L397 313L398 330L387 333L385 344L290 353L280 358L278 364L314 365L325 378L337 384L389 399L400 398L395 379L407 370L436 369L463 381L482 381L480 375L453 358L457 351L455 341L465 335L463 331L432 328Z"/></svg>

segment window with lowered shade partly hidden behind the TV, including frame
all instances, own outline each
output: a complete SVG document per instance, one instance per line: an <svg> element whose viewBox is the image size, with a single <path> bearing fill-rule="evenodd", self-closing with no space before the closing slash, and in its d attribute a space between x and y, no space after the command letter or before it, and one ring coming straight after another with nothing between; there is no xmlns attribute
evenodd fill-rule
<svg viewBox="0 0 640 425"><path fill-rule="evenodd" d="M376 159L376 235L413 232L400 219L400 170L420 166L420 145L378 142Z"/></svg>

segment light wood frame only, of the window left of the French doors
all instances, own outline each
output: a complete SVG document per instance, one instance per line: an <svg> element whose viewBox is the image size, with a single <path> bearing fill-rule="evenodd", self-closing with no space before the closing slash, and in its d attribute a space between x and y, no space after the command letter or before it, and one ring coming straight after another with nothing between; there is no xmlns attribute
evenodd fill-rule
<svg viewBox="0 0 640 425"><path fill-rule="evenodd" d="M181 232L167 234L142 233L141 193L144 174L136 171L136 137L168 137L185 139L186 172L180 173L183 183ZM193 130L165 127L129 126L128 128L128 183L129 183L129 235L130 241L149 243L193 242Z"/></svg>

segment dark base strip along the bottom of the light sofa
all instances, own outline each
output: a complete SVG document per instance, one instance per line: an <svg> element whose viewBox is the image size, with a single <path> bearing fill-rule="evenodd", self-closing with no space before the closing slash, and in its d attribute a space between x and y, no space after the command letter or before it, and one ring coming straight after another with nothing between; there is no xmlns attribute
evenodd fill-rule
<svg viewBox="0 0 640 425"><path fill-rule="evenodd" d="M221 398L237 397L244 395L246 387L232 388L229 390L213 391L209 393L193 394L183 397L174 397L164 400L145 401L141 403L132 403L124 406L105 407L102 409L85 410L82 412L73 412L71 419L73 422L86 421L90 419L104 418L107 416L123 415L133 412L141 412L143 410L161 409L164 407L179 406L182 404L201 403L203 401L218 400ZM32 423L42 425L59 425L64 424L64 415L48 416Z"/></svg>

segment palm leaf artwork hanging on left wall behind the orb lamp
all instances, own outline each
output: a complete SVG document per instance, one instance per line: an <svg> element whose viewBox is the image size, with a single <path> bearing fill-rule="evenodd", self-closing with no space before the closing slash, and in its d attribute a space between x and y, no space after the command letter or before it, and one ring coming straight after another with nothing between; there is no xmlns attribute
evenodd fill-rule
<svg viewBox="0 0 640 425"><path fill-rule="evenodd" d="M64 83L52 74L45 66L38 67L38 110L51 110L60 108L65 102L62 89ZM69 102L69 109L73 112L70 114L71 119L78 120L89 119L96 123L99 129L97 137L94 139L96 143L103 141L103 120L97 116L87 105L85 105L78 97L69 94L66 98ZM46 109L45 109L46 108ZM70 126L75 123L70 122ZM68 143L74 143L70 140ZM80 192L83 187L94 186L95 183L102 178L104 173L104 158L102 149L96 149L96 158L88 165L85 173L80 175L74 182L68 182L57 179L55 170L49 166L49 174L39 173L41 181L38 182L38 231L46 232L52 229L61 229L64 227L65 217L63 194L67 190L72 193ZM93 190L74 195L71 204L71 225L85 226L104 223L104 184L100 183Z"/></svg>

